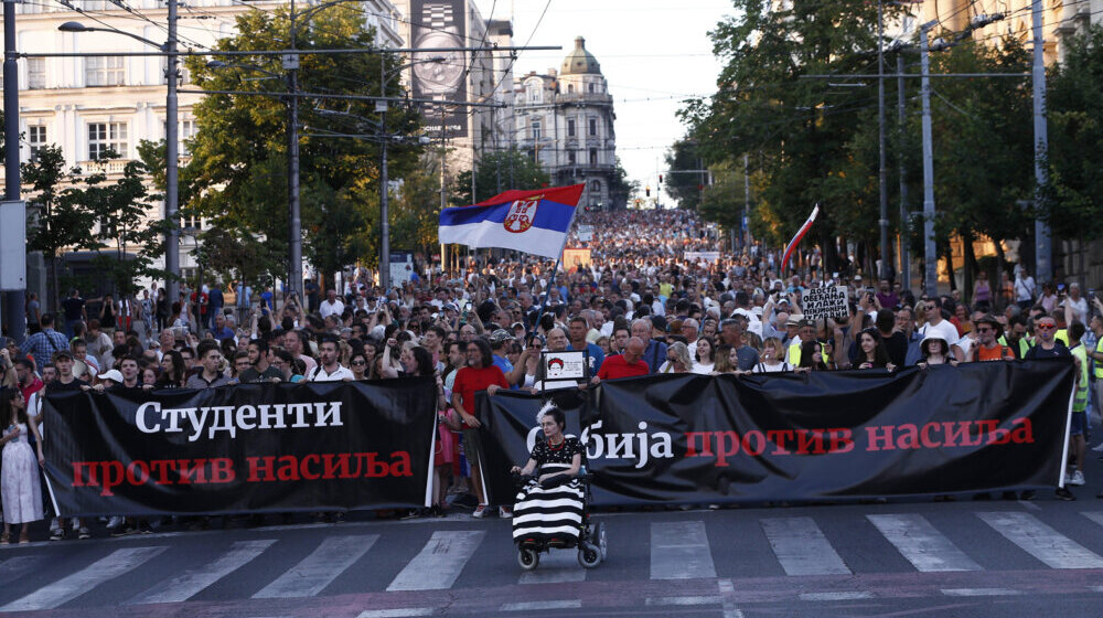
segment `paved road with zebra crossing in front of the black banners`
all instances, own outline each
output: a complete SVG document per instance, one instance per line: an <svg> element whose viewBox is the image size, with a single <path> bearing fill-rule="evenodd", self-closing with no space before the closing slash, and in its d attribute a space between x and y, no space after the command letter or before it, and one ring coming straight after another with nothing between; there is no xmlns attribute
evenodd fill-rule
<svg viewBox="0 0 1103 618"><path fill-rule="evenodd" d="M1097 476L1096 479L1103 478ZM1099 616L1103 500L599 515L608 562L523 573L463 515L0 550L0 611L81 617Z"/></svg>

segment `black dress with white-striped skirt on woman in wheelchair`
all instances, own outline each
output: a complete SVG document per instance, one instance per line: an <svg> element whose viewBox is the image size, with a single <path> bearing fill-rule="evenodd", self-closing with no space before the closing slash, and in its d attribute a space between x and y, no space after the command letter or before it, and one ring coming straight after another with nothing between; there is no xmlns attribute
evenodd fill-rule
<svg viewBox="0 0 1103 618"><path fill-rule="evenodd" d="M576 454L583 454L582 443L574 436L566 437L558 447L546 441L537 443L529 456L536 461L537 477L570 468ZM582 486L578 479L552 489L544 489L532 480L517 493L513 505L514 542L545 543L578 539L582 524Z"/></svg>

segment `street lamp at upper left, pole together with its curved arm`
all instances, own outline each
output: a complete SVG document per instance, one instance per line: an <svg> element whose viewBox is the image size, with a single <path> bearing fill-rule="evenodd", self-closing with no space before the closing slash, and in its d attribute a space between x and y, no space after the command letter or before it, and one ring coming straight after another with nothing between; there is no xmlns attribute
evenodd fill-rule
<svg viewBox="0 0 1103 618"><path fill-rule="evenodd" d="M57 26L62 32L113 32L122 34L136 41L156 47L165 53L167 66L164 77L167 82L167 95L164 102L164 220L171 222L164 236L164 269L169 273L165 277L164 288L169 302L175 302L180 296L180 232L176 225L176 211L179 209L179 140L176 121L180 115L176 99L176 79L180 77L176 70L179 58L176 56L176 0L167 0L168 7L168 35L164 43L156 43L124 30L114 28L94 28L84 25L77 21L67 21Z"/></svg>

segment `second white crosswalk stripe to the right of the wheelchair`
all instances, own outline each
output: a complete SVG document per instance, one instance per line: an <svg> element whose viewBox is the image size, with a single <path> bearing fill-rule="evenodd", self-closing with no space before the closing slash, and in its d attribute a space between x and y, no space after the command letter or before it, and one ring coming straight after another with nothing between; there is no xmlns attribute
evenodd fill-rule
<svg viewBox="0 0 1103 618"><path fill-rule="evenodd" d="M812 518L759 520L785 575L850 575Z"/></svg>

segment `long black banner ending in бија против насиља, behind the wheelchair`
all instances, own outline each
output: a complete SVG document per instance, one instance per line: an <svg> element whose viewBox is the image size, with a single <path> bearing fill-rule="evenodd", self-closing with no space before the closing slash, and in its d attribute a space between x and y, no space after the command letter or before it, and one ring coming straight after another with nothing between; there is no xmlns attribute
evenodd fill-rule
<svg viewBox="0 0 1103 618"><path fill-rule="evenodd" d="M1053 487L1074 367L655 375L557 391L598 504L868 499ZM492 497L542 434L540 397L480 395Z"/></svg>

